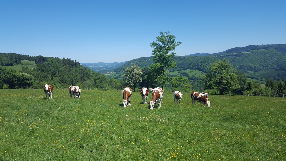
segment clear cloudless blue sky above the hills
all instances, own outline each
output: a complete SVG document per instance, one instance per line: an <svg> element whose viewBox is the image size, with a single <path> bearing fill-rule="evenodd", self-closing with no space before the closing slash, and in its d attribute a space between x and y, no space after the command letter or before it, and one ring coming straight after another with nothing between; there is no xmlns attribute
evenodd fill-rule
<svg viewBox="0 0 286 161"><path fill-rule="evenodd" d="M0 52L123 62L152 56L171 31L176 55L286 44L285 0L1 0Z"/></svg>

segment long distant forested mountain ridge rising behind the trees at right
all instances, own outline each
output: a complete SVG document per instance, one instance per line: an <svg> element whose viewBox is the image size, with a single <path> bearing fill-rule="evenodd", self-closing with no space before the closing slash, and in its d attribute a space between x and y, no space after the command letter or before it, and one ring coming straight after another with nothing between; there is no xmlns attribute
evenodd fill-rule
<svg viewBox="0 0 286 161"><path fill-rule="evenodd" d="M196 54L199 55L199 54ZM131 60L121 67L114 69L121 73L126 67L136 64L139 67L148 67L153 61L153 57L142 57ZM227 59L234 69L247 74L253 79L273 78L278 81L286 79L286 44L278 45L250 45L247 47L236 47L220 53L202 56L175 56L174 62L177 67L172 71L184 71L187 69L208 72L210 64ZM119 74L120 75L120 74Z"/></svg>

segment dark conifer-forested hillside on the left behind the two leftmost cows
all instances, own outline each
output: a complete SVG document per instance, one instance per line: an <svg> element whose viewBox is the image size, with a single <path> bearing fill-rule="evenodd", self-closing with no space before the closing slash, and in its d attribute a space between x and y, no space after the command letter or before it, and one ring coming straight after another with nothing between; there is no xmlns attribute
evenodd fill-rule
<svg viewBox="0 0 286 161"><path fill-rule="evenodd" d="M17 66L21 64L21 58L34 61L36 64L35 68L23 65L19 72L9 68L7 65L4 67L1 65L0 88L3 88L3 85L6 85L7 88L42 88L45 84L64 88L68 88L70 85L105 90L122 88L116 79L107 79L105 75L91 71L70 58L30 57L15 53L0 53L0 57L2 58L2 65L13 64ZM10 63L5 63L5 61ZM33 67L33 64L31 66Z"/></svg>

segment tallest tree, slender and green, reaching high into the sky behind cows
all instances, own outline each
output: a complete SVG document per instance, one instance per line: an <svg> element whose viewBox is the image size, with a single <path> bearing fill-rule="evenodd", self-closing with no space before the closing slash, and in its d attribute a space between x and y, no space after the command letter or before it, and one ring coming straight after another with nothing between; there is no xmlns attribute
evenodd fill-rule
<svg viewBox="0 0 286 161"><path fill-rule="evenodd" d="M168 82L169 78L165 75L165 69L172 69L176 67L176 63L173 58L176 53L172 52L182 42L176 42L175 36L170 35L171 31L160 32L160 36L156 37L156 42L153 41L150 47L154 48L152 51L154 64L150 66L150 70L153 73L154 78L153 86L161 86L164 88L164 84Z"/></svg>

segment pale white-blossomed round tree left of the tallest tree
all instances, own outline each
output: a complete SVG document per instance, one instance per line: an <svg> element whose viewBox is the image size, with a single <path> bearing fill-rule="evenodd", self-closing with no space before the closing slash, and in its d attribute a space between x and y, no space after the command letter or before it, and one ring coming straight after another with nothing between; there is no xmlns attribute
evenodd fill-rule
<svg viewBox="0 0 286 161"><path fill-rule="evenodd" d="M124 80L127 83L127 86L133 87L135 91L136 87L142 82L142 70L135 64L131 67L124 69Z"/></svg>

